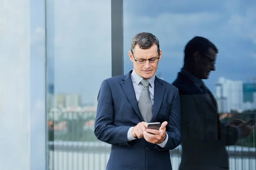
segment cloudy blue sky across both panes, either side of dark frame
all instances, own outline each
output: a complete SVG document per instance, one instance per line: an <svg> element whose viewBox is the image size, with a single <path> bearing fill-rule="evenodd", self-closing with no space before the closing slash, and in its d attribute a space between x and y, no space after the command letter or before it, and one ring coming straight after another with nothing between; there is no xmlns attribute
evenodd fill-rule
<svg viewBox="0 0 256 170"><path fill-rule="evenodd" d="M55 94L79 93L83 103L91 103L102 80L111 77L110 2L49 1L47 57L52 66L48 80L54 82ZM252 80L256 77L255 8L254 0L124 0L124 74L133 69L128 57L131 39L139 32L151 32L163 51L157 72L167 82L176 78L183 48L194 36L208 38L219 49L216 71L205 81L211 91L221 76ZM32 37L38 34L44 35L43 26L35 28Z"/></svg>

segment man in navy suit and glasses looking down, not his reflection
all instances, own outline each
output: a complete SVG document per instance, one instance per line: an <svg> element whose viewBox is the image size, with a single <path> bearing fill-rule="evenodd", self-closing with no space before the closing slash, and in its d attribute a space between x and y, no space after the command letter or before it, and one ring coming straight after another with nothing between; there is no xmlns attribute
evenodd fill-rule
<svg viewBox="0 0 256 170"><path fill-rule="evenodd" d="M105 79L98 94L95 135L111 144L107 170L172 170L169 150L180 144L177 88L155 76L159 41L139 33L131 41L134 69ZM146 129L160 122L160 130Z"/></svg>

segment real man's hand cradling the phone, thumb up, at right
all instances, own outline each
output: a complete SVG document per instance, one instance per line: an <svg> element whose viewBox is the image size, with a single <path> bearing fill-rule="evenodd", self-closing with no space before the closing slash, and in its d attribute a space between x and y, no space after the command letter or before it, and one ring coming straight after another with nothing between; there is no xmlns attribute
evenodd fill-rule
<svg viewBox="0 0 256 170"><path fill-rule="evenodd" d="M166 125L163 122L159 130L147 129L143 132L144 139L152 144L160 144L166 139Z"/></svg>

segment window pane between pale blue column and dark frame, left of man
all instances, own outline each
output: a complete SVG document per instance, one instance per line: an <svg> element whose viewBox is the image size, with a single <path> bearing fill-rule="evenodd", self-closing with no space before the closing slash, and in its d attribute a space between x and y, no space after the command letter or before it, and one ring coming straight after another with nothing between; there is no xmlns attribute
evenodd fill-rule
<svg viewBox="0 0 256 170"><path fill-rule="evenodd" d="M111 77L111 1L47 0L49 169L105 169L94 135L97 95Z"/></svg>

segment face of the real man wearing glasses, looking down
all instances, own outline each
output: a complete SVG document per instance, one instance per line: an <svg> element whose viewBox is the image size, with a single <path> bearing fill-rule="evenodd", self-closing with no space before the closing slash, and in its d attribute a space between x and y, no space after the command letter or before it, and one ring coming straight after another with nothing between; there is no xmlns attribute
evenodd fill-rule
<svg viewBox="0 0 256 170"><path fill-rule="evenodd" d="M162 57L162 51L160 50L160 54L158 55L157 45L155 44L145 50L141 49L139 45L136 45L132 52L129 51L129 57L134 64L134 71L144 79L150 79L157 71L158 61ZM159 59L157 59L158 57ZM145 63L142 63L144 59L150 59L151 62L146 60Z"/></svg>

